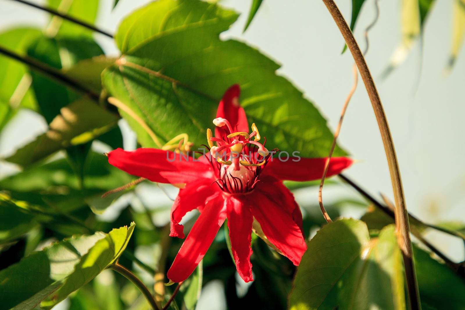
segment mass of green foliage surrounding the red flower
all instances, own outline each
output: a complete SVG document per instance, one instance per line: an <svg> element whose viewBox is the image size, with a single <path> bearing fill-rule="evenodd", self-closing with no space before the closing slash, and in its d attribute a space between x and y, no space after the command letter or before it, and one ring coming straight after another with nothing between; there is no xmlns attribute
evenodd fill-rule
<svg viewBox="0 0 465 310"><path fill-rule="evenodd" d="M253 27L262 2L250 1L244 31ZM352 30L369 2L352 0ZM415 40L422 40L428 14L440 5L434 2L401 1L401 42L384 76L405 60ZM43 5L90 25L100 7L99 1L84 0ZM447 70L464 37L464 8L463 0L454 1ZM161 148L187 133L201 147L222 93L239 83L241 104L250 122L266 132L269 145L305 157L329 151L332 133L326 119L276 73L279 65L245 42L220 39L236 22L236 12L210 2L158 0L127 14L114 33L120 58L106 57L91 29L58 16L51 15L43 29L1 30L1 51L24 61L0 54L0 130L24 109L42 115L48 128L2 158L20 169L0 180L0 309L50 309L65 298L54 309L150 309L133 284L106 270L117 259L160 303L169 299L175 287L160 283L167 282L164 274L182 244L168 237L177 190L143 181L101 198L136 179L108 165L102 154L124 146L121 128L127 131L127 124L139 146ZM338 146L335 155L348 151ZM318 183L286 186L299 198ZM334 178L326 189L344 183ZM306 237L312 239L297 273L290 261L253 235L255 281L249 284L236 272L225 225L170 308L195 309L200 298L198 309L406 309L389 202L361 194L326 203L332 218L350 214L360 220L341 219L321 231L326 222L316 199L298 199ZM186 216L186 231L197 215ZM464 309L463 264L441 257L423 235L440 229L465 239L465 225L457 221L435 227L416 218L411 224L424 309Z"/></svg>

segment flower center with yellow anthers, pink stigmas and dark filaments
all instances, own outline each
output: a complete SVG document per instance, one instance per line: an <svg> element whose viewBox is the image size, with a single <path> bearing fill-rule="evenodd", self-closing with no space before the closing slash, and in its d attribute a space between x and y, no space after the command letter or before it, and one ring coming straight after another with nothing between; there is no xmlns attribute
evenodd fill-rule
<svg viewBox="0 0 465 310"><path fill-rule="evenodd" d="M227 119L213 119L213 124L222 127L226 135L213 137L207 129L208 146L212 161L218 169L216 183L221 190L230 194L252 191L258 182L259 173L271 158L266 147L259 143L260 134L257 126L252 124L252 132L233 132ZM253 139L252 139L253 138ZM213 145L215 142L217 145Z"/></svg>

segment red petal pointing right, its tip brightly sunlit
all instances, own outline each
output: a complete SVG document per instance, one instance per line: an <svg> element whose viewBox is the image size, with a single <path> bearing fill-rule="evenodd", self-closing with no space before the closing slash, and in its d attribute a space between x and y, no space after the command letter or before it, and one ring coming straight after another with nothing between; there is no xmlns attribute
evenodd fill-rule
<svg viewBox="0 0 465 310"><path fill-rule="evenodd" d="M348 157L333 157L329 163L326 177L339 174L345 168L352 165L352 159ZM272 175L281 180L291 181L311 181L318 180L323 176L326 158L300 158L299 161L280 161L279 158L273 158L266 164L263 173Z"/></svg>

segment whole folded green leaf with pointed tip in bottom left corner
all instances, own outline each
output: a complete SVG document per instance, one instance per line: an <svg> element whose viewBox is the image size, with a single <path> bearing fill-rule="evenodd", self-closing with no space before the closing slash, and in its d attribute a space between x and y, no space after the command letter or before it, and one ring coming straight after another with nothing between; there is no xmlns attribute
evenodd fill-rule
<svg viewBox="0 0 465 310"><path fill-rule="evenodd" d="M0 303L14 310L58 303L112 264L133 230L134 223L108 234L71 237L21 259L0 271Z"/></svg>

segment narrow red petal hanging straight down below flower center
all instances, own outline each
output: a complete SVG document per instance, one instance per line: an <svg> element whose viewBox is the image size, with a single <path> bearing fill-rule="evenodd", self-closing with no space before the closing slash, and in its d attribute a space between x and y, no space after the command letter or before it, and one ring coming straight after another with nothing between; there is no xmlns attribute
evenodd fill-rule
<svg viewBox="0 0 465 310"><path fill-rule="evenodd" d="M252 255L250 247L252 241L252 213L247 204L233 196L226 200L226 205L229 238L236 269L245 282L250 282L253 281L252 264L250 263L250 256Z"/></svg>

